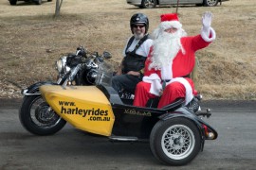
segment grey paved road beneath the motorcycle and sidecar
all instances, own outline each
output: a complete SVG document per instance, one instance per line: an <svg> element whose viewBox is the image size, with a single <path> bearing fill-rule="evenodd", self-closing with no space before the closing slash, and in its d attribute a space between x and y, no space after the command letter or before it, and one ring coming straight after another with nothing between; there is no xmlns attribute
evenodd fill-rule
<svg viewBox="0 0 256 170"><path fill-rule="evenodd" d="M20 101L0 100L0 169L256 169L254 102L204 102L207 121L219 132L215 141L186 166L163 165L149 144L110 143L66 126L55 135L29 134L19 123Z"/></svg>

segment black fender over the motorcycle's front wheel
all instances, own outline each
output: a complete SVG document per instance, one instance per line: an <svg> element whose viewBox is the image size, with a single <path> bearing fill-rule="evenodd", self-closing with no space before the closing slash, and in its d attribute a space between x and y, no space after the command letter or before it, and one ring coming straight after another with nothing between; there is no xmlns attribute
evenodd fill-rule
<svg viewBox="0 0 256 170"><path fill-rule="evenodd" d="M39 91L39 87L46 84L58 85L57 83L51 81L40 81L30 85L26 89L23 89L21 93L23 95L40 95L41 93Z"/></svg>

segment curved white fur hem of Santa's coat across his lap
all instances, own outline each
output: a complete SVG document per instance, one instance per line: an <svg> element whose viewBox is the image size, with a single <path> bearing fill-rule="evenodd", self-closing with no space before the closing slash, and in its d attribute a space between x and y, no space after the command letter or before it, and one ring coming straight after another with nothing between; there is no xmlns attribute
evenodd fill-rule
<svg viewBox="0 0 256 170"><path fill-rule="evenodd" d="M185 87L185 89L186 89L185 105L187 105L188 103L190 103L190 102L192 101L192 97L193 97L191 84L190 84L189 81L188 81L187 79L185 79L184 77L175 77L175 78L173 78L171 81L169 81L168 83L166 83L166 86L167 86L168 84L171 84L171 83L174 82L174 81L183 84L183 86Z"/></svg>

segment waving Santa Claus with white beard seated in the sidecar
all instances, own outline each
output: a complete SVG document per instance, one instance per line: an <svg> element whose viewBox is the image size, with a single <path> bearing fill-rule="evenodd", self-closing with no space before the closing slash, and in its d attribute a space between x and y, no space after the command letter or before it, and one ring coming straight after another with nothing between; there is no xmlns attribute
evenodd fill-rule
<svg viewBox="0 0 256 170"><path fill-rule="evenodd" d="M150 98L160 96L157 108L184 97L188 104L195 93L192 72L194 53L207 47L216 34L210 27L212 14L202 17L201 34L188 37L176 13L161 15L161 23L154 31L155 41L145 62L143 81L137 84L134 105L145 107Z"/></svg>

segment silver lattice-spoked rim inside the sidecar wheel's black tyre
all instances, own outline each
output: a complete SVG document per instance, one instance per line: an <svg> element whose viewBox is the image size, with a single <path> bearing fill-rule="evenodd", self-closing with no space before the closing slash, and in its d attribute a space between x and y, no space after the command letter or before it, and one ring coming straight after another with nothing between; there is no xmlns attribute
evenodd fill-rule
<svg viewBox="0 0 256 170"><path fill-rule="evenodd" d="M171 159L187 158L194 148L195 138L191 128L184 125L174 125L163 133L161 147Z"/></svg>

